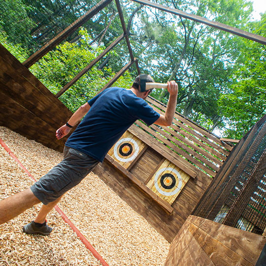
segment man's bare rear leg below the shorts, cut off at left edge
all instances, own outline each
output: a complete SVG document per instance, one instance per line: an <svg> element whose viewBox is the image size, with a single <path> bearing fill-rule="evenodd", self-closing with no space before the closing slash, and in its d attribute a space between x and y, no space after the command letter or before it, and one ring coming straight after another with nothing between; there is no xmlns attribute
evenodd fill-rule
<svg viewBox="0 0 266 266"><path fill-rule="evenodd" d="M25 210L39 203L31 189L26 189L0 201L0 225L17 217Z"/></svg>

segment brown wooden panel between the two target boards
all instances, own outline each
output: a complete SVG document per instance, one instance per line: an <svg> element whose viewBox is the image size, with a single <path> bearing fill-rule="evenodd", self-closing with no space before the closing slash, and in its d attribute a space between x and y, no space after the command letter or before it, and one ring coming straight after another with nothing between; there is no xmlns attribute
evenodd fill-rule
<svg viewBox="0 0 266 266"><path fill-rule="evenodd" d="M163 158L161 154L148 147L129 171L146 184Z"/></svg>

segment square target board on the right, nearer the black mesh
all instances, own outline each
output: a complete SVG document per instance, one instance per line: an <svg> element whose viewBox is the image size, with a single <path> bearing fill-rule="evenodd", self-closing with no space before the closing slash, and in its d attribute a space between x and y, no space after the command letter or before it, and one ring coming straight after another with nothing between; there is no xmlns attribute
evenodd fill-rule
<svg viewBox="0 0 266 266"><path fill-rule="evenodd" d="M189 178L190 176L179 167L165 160L147 186L160 198L172 204Z"/></svg>

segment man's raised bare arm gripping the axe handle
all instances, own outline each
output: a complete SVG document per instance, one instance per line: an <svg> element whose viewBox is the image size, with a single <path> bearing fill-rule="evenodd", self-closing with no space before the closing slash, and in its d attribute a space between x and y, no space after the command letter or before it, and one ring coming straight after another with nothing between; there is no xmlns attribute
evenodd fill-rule
<svg viewBox="0 0 266 266"><path fill-rule="evenodd" d="M160 115L160 117L154 122L154 124L159 126L170 126L173 121L173 116L176 108L176 99L178 94L178 86L175 81L168 81L167 91L169 93L169 99L166 107L165 115Z"/></svg>

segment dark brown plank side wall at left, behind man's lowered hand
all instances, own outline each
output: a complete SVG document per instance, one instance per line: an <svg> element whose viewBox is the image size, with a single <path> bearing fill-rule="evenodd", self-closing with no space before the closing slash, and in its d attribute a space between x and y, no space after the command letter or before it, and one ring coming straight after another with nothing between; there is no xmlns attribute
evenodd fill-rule
<svg viewBox="0 0 266 266"><path fill-rule="evenodd" d="M63 151L55 131L72 112L1 44L0 114L1 126Z"/></svg>

